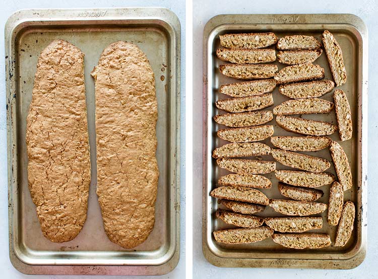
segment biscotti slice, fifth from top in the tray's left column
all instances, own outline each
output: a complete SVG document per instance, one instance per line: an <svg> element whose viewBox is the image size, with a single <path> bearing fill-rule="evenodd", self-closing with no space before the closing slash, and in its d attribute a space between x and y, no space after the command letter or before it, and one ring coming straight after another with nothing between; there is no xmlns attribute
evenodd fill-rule
<svg viewBox="0 0 378 279"><path fill-rule="evenodd" d="M221 99L217 100L215 105L228 113L242 113L243 111L259 110L273 105L273 95L267 93L258 96Z"/></svg>

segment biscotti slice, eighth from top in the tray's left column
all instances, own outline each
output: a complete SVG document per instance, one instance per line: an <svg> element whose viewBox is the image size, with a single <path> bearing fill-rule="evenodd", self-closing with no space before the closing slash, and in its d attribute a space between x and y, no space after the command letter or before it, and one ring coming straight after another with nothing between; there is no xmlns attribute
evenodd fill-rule
<svg viewBox="0 0 378 279"><path fill-rule="evenodd" d="M213 158L261 156L271 153L271 148L260 142L228 143L213 151Z"/></svg>

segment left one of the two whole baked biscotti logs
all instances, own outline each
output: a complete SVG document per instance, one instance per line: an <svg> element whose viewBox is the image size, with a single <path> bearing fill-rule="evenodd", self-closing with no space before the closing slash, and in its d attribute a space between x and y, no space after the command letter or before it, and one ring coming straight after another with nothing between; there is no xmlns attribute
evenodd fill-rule
<svg viewBox="0 0 378 279"><path fill-rule="evenodd" d="M43 235L74 239L87 217L90 183L84 54L63 40L40 54L27 116L29 189Z"/></svg>

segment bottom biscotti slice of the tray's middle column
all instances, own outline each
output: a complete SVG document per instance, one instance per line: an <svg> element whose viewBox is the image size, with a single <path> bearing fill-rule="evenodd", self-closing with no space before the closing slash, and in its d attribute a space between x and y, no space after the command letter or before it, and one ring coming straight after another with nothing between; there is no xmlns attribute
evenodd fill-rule
<svg viewBox="0 0 378 279"><path fill-rule="evenodd" d="M319 249L331 245L331 237L327 234L274 234L273 241L293 249Z"/></svg>

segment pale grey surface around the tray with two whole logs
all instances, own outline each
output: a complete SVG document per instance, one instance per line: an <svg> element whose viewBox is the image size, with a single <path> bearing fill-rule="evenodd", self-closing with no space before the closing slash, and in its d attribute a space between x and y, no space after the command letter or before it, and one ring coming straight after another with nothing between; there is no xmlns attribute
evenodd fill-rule
<svg viewBox="0 0 378 279"><path fill-rule="evenodd" d="M7 126L6 126L6 86L5 86L5 54L4 54L4 26L8 17L20 9L41 8L119 8L119 7L165 7L172 10L181 23L181 233L180 233L180 261L170 273L157 278L184 278L185 277L185 1L184 0L17 0L0 2L0 265L1 278L92 278L103 276L61 276L61 275L25 275L17 271L11 264L8 256L8 170L7 170ZM112 276L112 278L124 276ZM128 278L151 278L151 276L128 276Z"/></svg>

